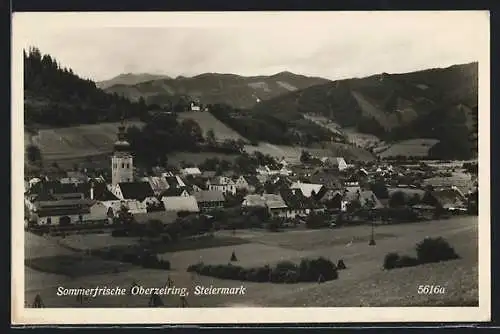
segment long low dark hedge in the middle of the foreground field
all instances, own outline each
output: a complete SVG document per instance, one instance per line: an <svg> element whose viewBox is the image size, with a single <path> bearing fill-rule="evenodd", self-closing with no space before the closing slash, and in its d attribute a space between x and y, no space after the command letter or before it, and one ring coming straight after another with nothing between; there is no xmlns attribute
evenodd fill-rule
<svg viewBox="0 0 500 334"><path fill-rule="evenodd" d="M200 275L250 282L297 283L330 281L338 278L337 266L328 259L303 259L299 265L281 261L275 267L265 265L256 268L243 268L231 263L207 265L203 262L190 265L188 272Z"/></svg>

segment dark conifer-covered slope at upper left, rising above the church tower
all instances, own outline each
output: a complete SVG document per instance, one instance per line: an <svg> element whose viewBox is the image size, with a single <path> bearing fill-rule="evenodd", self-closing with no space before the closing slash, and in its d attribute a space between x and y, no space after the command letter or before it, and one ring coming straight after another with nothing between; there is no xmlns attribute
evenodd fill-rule
<svg viewBox="0 0 500 334"><path fill-rule="evenodd" d="M141 117L148 110L144 100L108 94L37 48L24 52L24 108L26 125L56 127Z"/></svg>

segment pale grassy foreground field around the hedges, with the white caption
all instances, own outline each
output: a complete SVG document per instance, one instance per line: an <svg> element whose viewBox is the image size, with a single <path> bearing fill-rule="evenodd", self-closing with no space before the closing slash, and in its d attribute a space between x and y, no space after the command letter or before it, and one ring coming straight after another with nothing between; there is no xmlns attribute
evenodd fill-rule
<svg viewBox="0 0 500 334"><path fill-rule="evenodd" d="M477 217L377 226L376 246L368 245L370 232L369 226L277 233L264 230L236 231L235 237L248 243L164 253L161 256L172 264L170 271L130 267L124 268L125 271L70 278L26 267L26 298L31 302L39 293L47 307L144 307L148 296L99 297L80 304L75 297L57 297L55 292L59 285L68 288L95 285L129 288L134 280L143 286L161 287L170 275L176 287L191 290L195 285L238 287L243 284L247 288L247 294L241 296L188 296L190 306L198 307L425 306L477 303ZM232 235L232 232L220 232L218 235ZM388 252L414 255L415 244L426 236L444 237L461 258L412 268L382 270L383 259ZM43 249L43 252L40 251L40 256L43 257L50 253L52 256L60 256L69 252L53 240L41 237L27 236L25 247L27 257L32 258L38 255L32 250ZM323 284L240 282L185 271L187 266L200 260L211 264L226 264L233 251L238 258L237 264L245 267L273 264L280 260L299 262L304 257L324 256L335 262L343 259L347 269L339 272L339 279ZM115 266L117 264L110 265ZM446 292L434 296L418 295L417 287L420 284L441 285L446 288ZM163 296L162 300L166 306L179 306L178 296Z"/></svg>

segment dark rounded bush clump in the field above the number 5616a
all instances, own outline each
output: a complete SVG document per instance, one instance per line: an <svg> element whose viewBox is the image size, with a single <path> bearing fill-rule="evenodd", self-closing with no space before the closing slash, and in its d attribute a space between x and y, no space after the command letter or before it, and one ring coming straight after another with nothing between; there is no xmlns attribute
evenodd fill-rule
<svg viewBox="0 0 500 334"><path fill-rule="evenodd" d="M425 238L416 245L417 257L389 253L384 258L384 269L413 267L419 264L458 259L459 256L442 237Z"/></svg>

